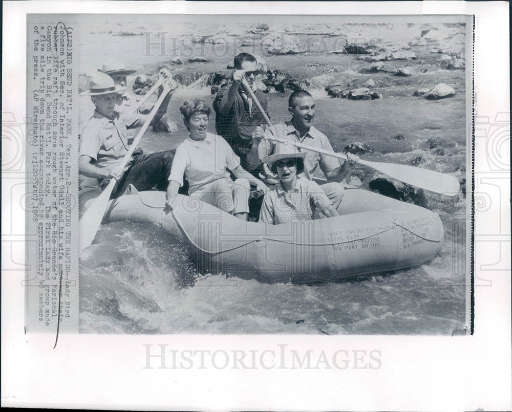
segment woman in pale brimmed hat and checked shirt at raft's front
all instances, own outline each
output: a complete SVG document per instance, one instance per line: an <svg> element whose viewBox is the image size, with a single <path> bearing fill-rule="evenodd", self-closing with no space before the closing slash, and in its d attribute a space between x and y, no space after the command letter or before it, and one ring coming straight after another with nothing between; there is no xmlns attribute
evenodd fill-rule
<svg viewBox="0 0 512 412"><path fill-rule="evenodd" d="M279 145L275 154L264 159L277 173L279 182L263 199L260 222L279 225L312 220L315 212L327 218L339 216L324 190L314 181L299 177L304 172L306 152L294 146Z"/></svg>

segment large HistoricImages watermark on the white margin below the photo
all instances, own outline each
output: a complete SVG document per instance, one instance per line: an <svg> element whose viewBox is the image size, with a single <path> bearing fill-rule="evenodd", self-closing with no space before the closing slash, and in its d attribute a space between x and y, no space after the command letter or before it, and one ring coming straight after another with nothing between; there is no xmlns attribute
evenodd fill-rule
<svg viewBox="0 0 512 412"><path fill-rule="evenodd" d="M243 370L375 370L382 367L377 349L291 349L277 344L265 350L175 349L168 344L144 344L143 369L243 369Z"/></svg>

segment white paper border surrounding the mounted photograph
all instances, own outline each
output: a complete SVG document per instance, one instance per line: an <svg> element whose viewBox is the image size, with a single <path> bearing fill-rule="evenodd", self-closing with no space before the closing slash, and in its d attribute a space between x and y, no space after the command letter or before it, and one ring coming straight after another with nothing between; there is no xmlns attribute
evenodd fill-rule
<svg viewBox="0 0 512 412"><path fill-rule="evenodd" d="M505 2L4 2L3 112L23 121L26 105L26 13L191 14L475 14L477 114L494 118L509 109L509 30ZM491 119L491 120L492 120ZM506 149L506 148L505 148ZM468 151L470 147L468 147ZM475 191L488 166L485 139L476 140ZM5 156L3 156L5 157ZM482 175L479 175L482 173ZM503 174L502 174L503 175ZM506 174L505 174L506 175ZM497 175L492 175L497 177ZM2 219L24 222L3 185ZM506 183L506 180L505 180ZM495 213L503 216L500 239L509 239L509 188ZM505 191L503 191L505 190ZM508 190L508 192L506 192ZM508 211L508 214L507 214ZM475 219L479 219L477 213ZM23 227L19 224L16 227ZM476 233L478 235L478 233ZM491 287L475 288L474 336L113 336L24 335L23 276L6 272L24 262L24 245L2 243L2 406L200 410L507 410L510 384L510 275L487 271ZM14 244L14 243L12 243ZM475 243L475 275L495 242ZM506 249L505 249L506 250ZM508 249L509 250L509 249ZM501 256L510 268L510 256ZM508 263L506 261L508 259ZM503 266L502 265L502 266ZM501 267L501 266L500 266ZM11 269L16 269L11 268ZM19 268L18 268L19 269ZM144 343L176 349L380 349L378 370L143 370Z"/></svg>

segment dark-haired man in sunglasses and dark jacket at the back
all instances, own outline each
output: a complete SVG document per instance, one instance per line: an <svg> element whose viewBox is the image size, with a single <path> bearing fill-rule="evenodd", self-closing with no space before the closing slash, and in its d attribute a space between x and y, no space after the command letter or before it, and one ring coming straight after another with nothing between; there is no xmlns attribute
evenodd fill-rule
<svg viewBox="0 0 512 412"><path fill-rule="evenodd" d="M214 100L215 127L217 134L224 137L234 153L240 157L242 167L252 170L254 166L249 167L247 164L247 153L252 146L252 132L256 126L264 124L265 119L244 90L242 81L247 80L265 112L268 112L267 96L256 86L255 78L259 72L253 55L240 53L234 57L234 69L231 74L232 83L223 85Z"/></svg>

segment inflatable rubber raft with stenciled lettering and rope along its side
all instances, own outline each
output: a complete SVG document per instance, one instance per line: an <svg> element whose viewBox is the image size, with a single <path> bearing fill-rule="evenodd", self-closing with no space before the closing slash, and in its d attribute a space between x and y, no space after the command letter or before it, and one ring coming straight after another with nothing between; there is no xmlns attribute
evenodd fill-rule
<svg viewBox="0 0 512 412"><path fill-rule="evenodd" d="M418 266L439 253L437 213L358 188L347 188L341 216L283 225L244 223L197 198L126 193L103 222L154 223L189 243L201 271L264 282L315 283Z"/></svg>

